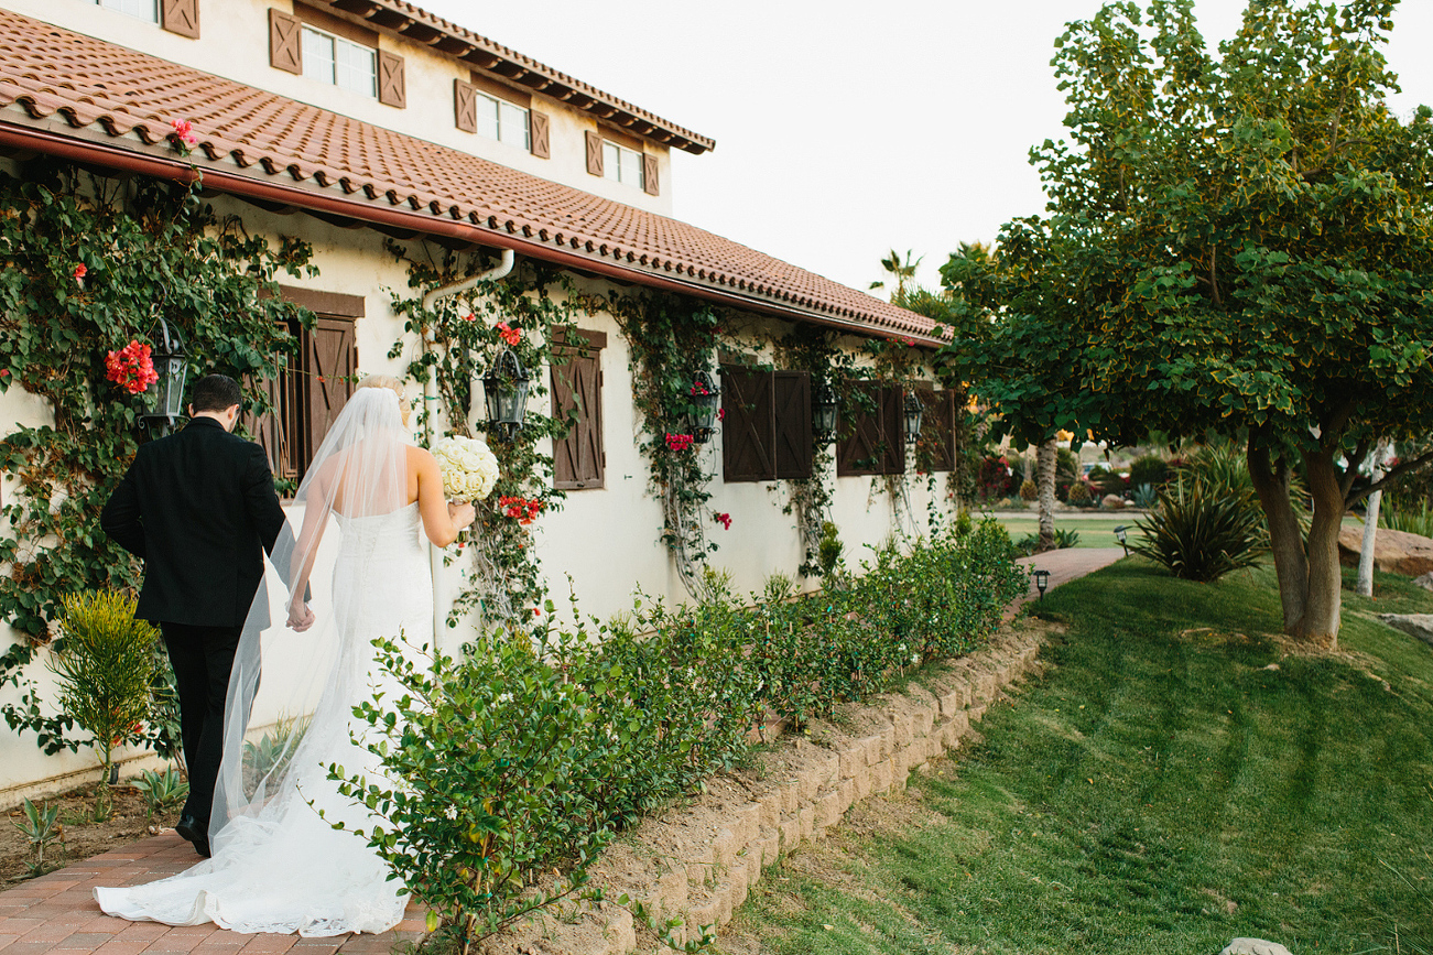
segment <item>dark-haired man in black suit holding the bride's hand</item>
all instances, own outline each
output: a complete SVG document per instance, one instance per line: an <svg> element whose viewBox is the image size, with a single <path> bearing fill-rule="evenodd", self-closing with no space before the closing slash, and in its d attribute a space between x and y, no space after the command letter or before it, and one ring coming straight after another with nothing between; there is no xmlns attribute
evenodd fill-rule
<svg viewBox="0 0 1433 955"><path fill-rule="evenodd" d="M175 832L208 856L229 671L264 581L262 551L272 553L284 510L264 449L231 434L242 399L238 381L205 376L191 399L183 430L139 447L100 526L145 562L135 615L163 634L189 767L189 799ZM312 621L305 608L291 625L301 631Z"/></svg>

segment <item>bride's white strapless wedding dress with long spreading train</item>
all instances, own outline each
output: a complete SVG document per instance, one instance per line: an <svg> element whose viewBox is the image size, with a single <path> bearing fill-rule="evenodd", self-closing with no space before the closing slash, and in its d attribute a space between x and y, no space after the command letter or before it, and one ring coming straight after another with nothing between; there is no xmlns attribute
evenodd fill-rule
<svg viewBox="0 0 1433 955"><path fill-rule="evenodd" d="M368 498L370 503L373 499ZM254 789L254 780L235 783L242 773L235 773L231 760L241 750L226 744L215 813L228 812L229 817L211 827L214 856L148 885L96 889L105 912L132 921L215 922L236 932L305 936L383 932L403 918L407 898L398 895L401 882L390 880L391 870L367 839L351 832L368 830L373 817L364 806L341 796L337 783L328 779L331 763L344 767L347 776L365 774L370 780L378 776L377 757L351 737L364 738L368 730L365 721L353 716L354 705L373 700L375 688L391 700L397 688L377 667L371 641L398 640L403 634L408 644L423 645L433 637L433 579L417 503L387 513L368 510L370 516L357 518L331 510L332 525L324 532L330 539L341 533L334 558L331 619L324 627L331 648L318 651L327 660L314 661L324 674L318 684L321 694L287 767L259 781L257 792L246 792ZM311 546L317 549L317 542ZM272 648L275 640L308 637L275 627L264 641ZM272 650L267 652L277 655ZM244 667L242 661L235 664L231 710L239 708L246 716L259 681L254 668L249 695L236 705L235 685L251 680L241 675ZM236 726L241 738L235 743L242 743L244 721ZM228 810L222 796L225 779L231 789L245 790L238 797L231 793ZM342 822L347 830L334 829L332 822Z"/></svg>

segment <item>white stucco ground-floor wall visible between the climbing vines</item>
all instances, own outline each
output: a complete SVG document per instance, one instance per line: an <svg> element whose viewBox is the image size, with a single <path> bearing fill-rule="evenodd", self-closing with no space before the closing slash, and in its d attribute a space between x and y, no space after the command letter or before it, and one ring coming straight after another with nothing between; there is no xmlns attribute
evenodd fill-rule
<svg viewBox="0 0 1433 955"><path fill-rule="evenodd" d="M13 168L13 166L11 166ZM297 235L312 244L314 264L318 275L305 278L281 277L288 285L299 285L318 291L363 295L365 317L357 323L358 366L361 373L400 374L407 356L390 358L394 343L403 337L401 320L390 307L391 291L413 294L407 288L407 271L384 250L383 237L368 229L342 229L311 217L277 215L257 209L238 199L214 199L221 212L234 212L244 218L251 234ZM576 278L582 291L603 294L616 287L595 278ZM632 290L622 288L625 294ZM567 576L572 576L583 614L608 618L631 608L632 594L638 584L655 598L678 602L686 599L686 591L661 542L662 513L659 503L648 492L648 462L639 450L641 423L636 417L632 396L632 371L626 341L618 323L608 314L585 315L579 320L585 328L605 331L606 348L600 353L603 370L603 440L606 447L606 486L590 490L569 492L565 506L543 515L535 525L536 549L552 589L555 602L566 608ZM770 318L734 315L729 323L755 337L782 334L784 326ZM408 340L411 353L414 343ZM856 341L848 343L856 350ZM770 350L767 351L770 360ZM546 371L543 373L546 377ZM410 384L410 394L417 397L418 386ZM533 407L549 412L550 397L535 399ZM43 403L32 396L11 389L0 396L0 426L39 424L49 420ZM438 429L443 430L441 427ZM550 452L550 449L547 449ZM719 545L709 556L714 568L731 574L732 586L738 595L759 591L765 578L781 572L791 578L802 561L802 548L795 529L795 519L781 509L787 505L790 489L785 482L722 480L721 436L698 452L706 466L712 493L709 510L731 513L732 526L724 531L719 523L708 521L706 535ZM868 552L864 545L878 545L893 532L897 522L893 518L891 500L886 493L883 479L835 478L833 518L840 526L845 545L848 565L854 569ZM924 482L914 476L906 479L914 521L904 522L907 533L924 531L924 512L929 495ZM873 490L874 489L874 490ZM13 489L6 488L4 493ZM936 495L943 496L944 479L937 478ZM97 521L97 515L96 515ZM437 589L441 597L451 597L461 584L463 568L470 564L467 556L453 566L440 571ZM3 568L0 568L3 572ZM807 581L805 586L814 586ZM324 595L318 595L318 612L322 612ZM0 631L0 645L13 640L9 631ZM453 651L464 640L461 631L441 631L440 645ZM274 641L272 667L265 670L265 690L282 690L281 677L284 641ZM275 674L272 678L269 674ZM42 695L54 698L53 680L43 665L33 665L27 675L42 684ZM282 694L275 695L281 698ZM0 691L0 700L14 700L13 690ZM279 704L259 705L255 724L271 721L279 716ZM77 756L43 756L33 738L20 738L9 730L0 731L0 807L13 804L24 794L63 789L73 784L67 773L92 767L87 753Z"/></svg>

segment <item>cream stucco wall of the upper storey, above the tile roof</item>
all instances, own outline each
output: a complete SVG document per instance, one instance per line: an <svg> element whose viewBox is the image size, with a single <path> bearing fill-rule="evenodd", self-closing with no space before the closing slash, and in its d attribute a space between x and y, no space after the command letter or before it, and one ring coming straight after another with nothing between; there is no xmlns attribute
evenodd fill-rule
<svg viewBox="0 0 1433 955"><path fill-rule="evenodd" d="M421 6L421 4L420 4ZM598 129L595 116L566 103L533 93L533 109L550 118L552 158L539 159L529 152L467 133L454 125L453 80L469 79L470 66L433 49L380 34L378 49L404 57L407 106L397 109L377 99L354 93L311 77L295 76L269 66L268 10L294 9L292 0L199 0L201 36L198 40L169 33L93 0L3 0L0 7L29 17L93 36L110 43L183 63L216 76L267 89L304 103L312 103L345 116L451 146L543 179L562 182L585 192L623 202L651 212L672 212L671 149L645 142L645 152L656 156L661 195L648 195L638 186L588 174L586 130ZM500 37L494 37L500 42ZM560 63L553 65L562 69ZM522 89L522 87L519 87ZM186 119L171 116L169 119ZM195 130L203 135L203 129Z"/></svg>

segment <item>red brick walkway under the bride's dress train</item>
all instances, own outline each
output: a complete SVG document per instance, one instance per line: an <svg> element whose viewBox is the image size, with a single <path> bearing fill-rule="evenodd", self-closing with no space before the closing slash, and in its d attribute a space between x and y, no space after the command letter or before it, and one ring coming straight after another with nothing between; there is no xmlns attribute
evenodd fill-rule
<svg viewBox="0 0 1433 955"><path fill-rule="evenodd" d="M212 922L171 928L105 915L95 886L142 885L195 865L193 846L173 832L77 862L0 892L0 955L385 955L423 933L423 912L410 905L398 928L383 935L239 935Z"/></svg>

